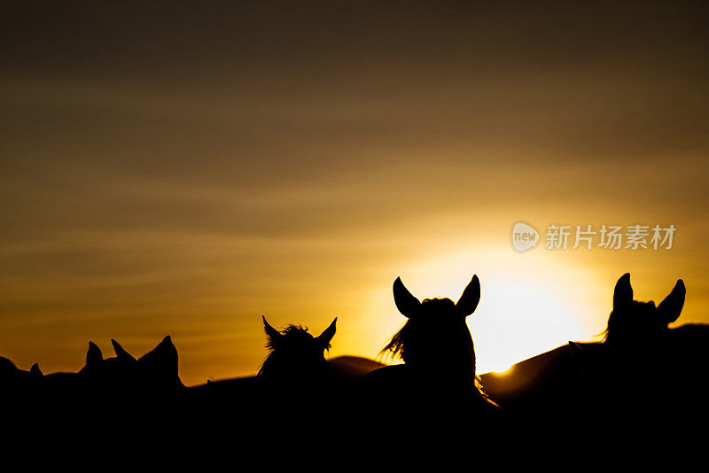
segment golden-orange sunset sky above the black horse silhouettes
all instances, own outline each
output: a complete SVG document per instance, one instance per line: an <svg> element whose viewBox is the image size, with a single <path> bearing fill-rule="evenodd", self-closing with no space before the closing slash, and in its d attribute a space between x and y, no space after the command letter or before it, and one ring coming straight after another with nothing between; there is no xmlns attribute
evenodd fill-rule
<svg viewBox="0 0 709 473"><path fill-rule="evenodd" d="M705 3L107 4L4 6L0 355L20 368L170 334L185 384L250 375L261 315L338 316L330 356L375 357L405 321L397 276L456 300L479 275L479 372L597 339L626 272L656 302L684 279L677 323L709 322ZM551 224L676 231L552 251Z"/></svg>

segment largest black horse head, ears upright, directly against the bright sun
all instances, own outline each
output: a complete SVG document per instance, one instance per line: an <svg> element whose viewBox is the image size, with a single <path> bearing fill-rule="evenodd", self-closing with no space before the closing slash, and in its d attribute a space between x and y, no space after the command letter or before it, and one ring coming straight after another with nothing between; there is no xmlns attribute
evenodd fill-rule
<svg viewBox="0 0 709 473"><path fill-rule="evenodd" d="M399 356L404 363L425 369L464 377L467 384L475 378L475 351L471 332L465 322L480 300L477 275L454 303L451 299L424 299L419 302L396 278L393 299L399 312L409 320L393 336L383 353Z"/></svg>

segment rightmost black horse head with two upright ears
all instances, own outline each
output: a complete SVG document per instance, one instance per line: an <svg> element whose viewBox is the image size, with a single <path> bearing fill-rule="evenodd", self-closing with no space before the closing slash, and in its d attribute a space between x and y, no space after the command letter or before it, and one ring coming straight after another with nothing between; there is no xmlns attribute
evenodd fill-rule
<svg viewBox="0 0 709 473"><path fill-rule="evenodd" d="M613 292L613 310L605 330L606 344L620 348L658 343L666 336L667 326L682 313L685 293L680 279L658 306L653 301L638 302L633 300L630 273L620 276Z"/></svg>

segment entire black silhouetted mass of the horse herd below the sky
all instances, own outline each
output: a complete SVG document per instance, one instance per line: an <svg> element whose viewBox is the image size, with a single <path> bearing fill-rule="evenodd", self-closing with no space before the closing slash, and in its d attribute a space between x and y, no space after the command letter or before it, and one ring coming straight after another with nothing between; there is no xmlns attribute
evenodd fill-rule
<svg viewBox="0 0 709 473"><path fill-rule="evenodd" d="M23 370L0 358L4 429L72 445L97 442L86 430L98 424L114 442L161 447L209 448L225 435L244 445L268 437L304 447L315 438L333 447L350 445L343 438L368 448L392 439L585 447L619 427L660 434L709 417L709 326L668 327L682 312L682 280L656 306L635 301L623 275L603 342L570 342L519 362L507 376L475 371L465 318L478 305L477 276L456 303L420 302L400 279L393 296L407 322L383 352L401 365L326 360L337 319L314 337L263 318L269 357L259 375L193 387L180 381L169 336L137 358L115 340L115 356L105 358L90 342L76 373L43 374L37 364ZM570 425L573 435L559 435Z"/></svg>

